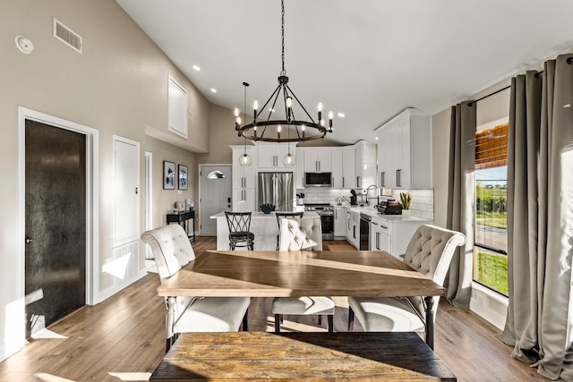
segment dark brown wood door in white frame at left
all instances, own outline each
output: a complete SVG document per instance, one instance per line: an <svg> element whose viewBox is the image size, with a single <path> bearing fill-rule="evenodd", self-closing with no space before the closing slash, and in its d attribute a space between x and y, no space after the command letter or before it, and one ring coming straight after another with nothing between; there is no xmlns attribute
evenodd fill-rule
<svg viewBox="0 0 573 382"><path fill-rule="evenodd" d="M26 121L26 336L85 304L86 136Z"/></svg>

